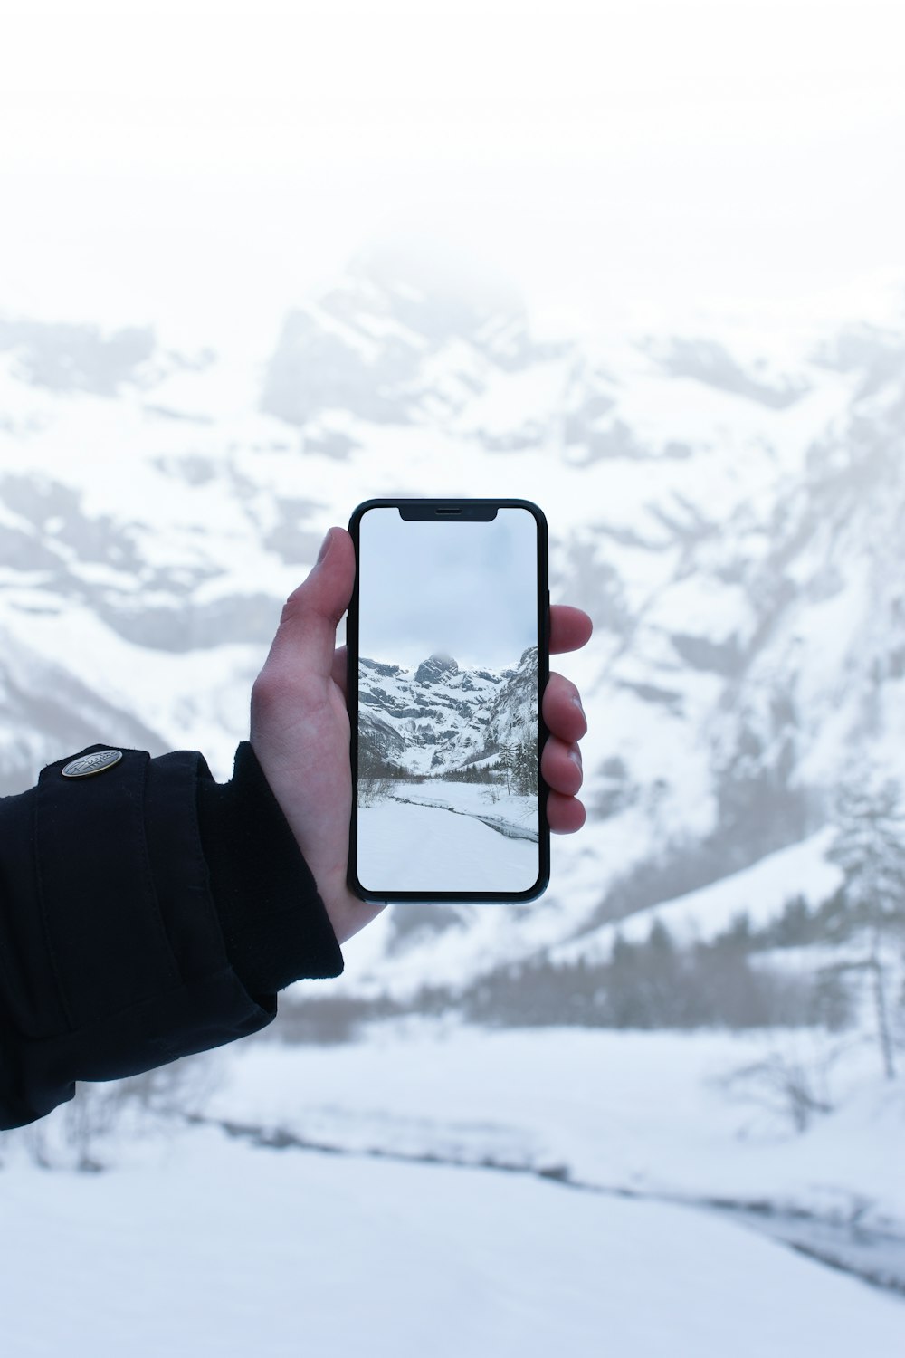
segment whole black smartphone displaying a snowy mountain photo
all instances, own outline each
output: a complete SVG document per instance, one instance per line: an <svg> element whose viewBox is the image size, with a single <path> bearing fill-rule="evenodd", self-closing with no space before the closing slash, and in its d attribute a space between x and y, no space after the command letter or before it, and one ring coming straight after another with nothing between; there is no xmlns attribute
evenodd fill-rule
<svg viewBox="0 0 905 1358"><path fill-rule="evenodd" d="M349 531L350 889L533 900L550 880L547 520L526 500L368 500Z"/></svg>

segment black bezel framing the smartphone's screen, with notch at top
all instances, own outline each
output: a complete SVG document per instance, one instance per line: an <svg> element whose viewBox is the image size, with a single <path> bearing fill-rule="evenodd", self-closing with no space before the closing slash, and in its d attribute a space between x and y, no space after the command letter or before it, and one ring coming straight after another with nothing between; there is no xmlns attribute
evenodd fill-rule
<svg viewBox="0 0 905 1358"><path fill-rule="evenodd" d="M537 880L525 891L381 891L374 892L366 888L357 873L358 847L358 553L361 520L370 509L407 509L410 517L431 519L441 517L445 512L460 511L464 519L484 517L486 509L525 509L532 515L537 531L537 767L540 770L540 755L547 739L547 727L543 716L543 699L547 682L550 679L550 581L548 581L548 530L543 509L531 500L512 498L377 498L365 500L357 505L349 520L349 532L355 547L355 584L353 588L349 615L346 622L347 646L347 708L350 744L349 758L351 767L351 816L349 822L349 889L361 900L372 904L391 904L392 902L414 900L422 903L450 903L450 902L502 902L525 903L536 900L550 884L550 823L547 820L547 793L543 773L539 775L539 872ZM440 513L438 513L440 511ZM486 516L490 517L490 516Z"/></svg>

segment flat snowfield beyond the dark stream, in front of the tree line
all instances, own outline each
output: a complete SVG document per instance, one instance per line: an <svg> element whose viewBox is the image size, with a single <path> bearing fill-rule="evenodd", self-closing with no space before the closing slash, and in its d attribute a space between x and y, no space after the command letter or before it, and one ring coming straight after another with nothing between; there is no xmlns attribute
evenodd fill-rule
<svg viewBox="0 0 905 1358"><path fill-rule="evenodd" d="M836 1111L794 1133L733 1082L782 1051ZM905 1093L868 1044L822 1033L487 1031L399 1020L336 1047L231 1051L210 1116L355 1152L567 1171L585 1184L890 1221L905 1233Z"/></svg>

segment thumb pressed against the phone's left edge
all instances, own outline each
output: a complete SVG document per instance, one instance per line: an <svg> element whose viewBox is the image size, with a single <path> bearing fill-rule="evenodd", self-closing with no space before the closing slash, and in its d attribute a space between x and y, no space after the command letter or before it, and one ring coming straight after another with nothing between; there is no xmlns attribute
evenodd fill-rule
<svg viewBox="0 0 905 1358"><path fill-rule="evenodd" d="M336 623L349 607L355 581L355 549L345 528L331 528L308 579L286 599L270 659L292 657L294 669L328 679Z"/></svg>

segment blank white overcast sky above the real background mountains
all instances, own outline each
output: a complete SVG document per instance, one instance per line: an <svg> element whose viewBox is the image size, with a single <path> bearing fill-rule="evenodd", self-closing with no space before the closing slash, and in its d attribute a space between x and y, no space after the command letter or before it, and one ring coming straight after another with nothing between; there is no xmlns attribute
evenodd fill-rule
<svg viewBox="0 0 905 1358"><path fill-rule="evenodd" d="M0 310L273 334L374 234L620 323L904 272L900 0L7 0Z"/></svg>

